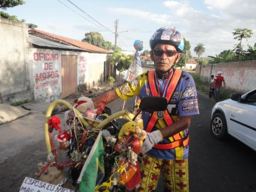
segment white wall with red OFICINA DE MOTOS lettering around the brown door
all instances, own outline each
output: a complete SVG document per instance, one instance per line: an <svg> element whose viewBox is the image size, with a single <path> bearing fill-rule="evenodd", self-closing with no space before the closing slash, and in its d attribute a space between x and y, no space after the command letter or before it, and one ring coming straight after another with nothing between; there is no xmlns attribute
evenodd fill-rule
<svg viewBox="0 0 256 192"><path fill-rule="evenodd" d="M77 84L87 84L88 52L29 48L30 88L35 101L61 99L61 55L77 55Z"/></svg>

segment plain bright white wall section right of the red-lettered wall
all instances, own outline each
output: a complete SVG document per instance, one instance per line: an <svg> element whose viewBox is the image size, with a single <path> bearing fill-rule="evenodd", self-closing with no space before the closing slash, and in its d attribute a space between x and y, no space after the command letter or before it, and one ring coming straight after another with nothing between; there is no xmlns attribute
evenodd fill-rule
<svg viewBox="0 0 256 192"><path fill-rule="evenodd" d="M87 86L97 87L103 81L104 61L107 59L107 54L89 53L89 74Z"/></svg>

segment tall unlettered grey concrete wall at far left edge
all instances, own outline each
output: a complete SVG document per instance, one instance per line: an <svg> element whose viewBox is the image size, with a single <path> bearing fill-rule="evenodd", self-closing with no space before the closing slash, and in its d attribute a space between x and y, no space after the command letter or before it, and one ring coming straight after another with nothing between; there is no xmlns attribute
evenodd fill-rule
<svg viewBox="0 0 256 192"><path fill-rule="evenodd" d="M29 90L27 26L0 18L0 100L33 99Z"/></svg>

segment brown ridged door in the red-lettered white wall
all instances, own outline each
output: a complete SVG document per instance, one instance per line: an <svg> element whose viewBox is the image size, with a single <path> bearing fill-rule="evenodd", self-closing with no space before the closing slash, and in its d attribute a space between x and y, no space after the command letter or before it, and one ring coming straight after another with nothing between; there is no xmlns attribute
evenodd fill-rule
<svg viewBox="0 0 256 192"><path fill-rule="evenodd" d="M61 55L61 98L64 99L77 89L77 55Z"/></svg>

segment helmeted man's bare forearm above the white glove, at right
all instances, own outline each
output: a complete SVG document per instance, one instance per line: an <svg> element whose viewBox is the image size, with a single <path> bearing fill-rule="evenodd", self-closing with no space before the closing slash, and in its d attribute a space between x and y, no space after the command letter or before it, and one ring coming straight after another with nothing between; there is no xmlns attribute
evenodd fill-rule
<svg viewBox="0 0 256 192"><path fill-rule="evenodd" d="M163 139L171 137L177 134L178 132L183 131L186 128L189 128L190 122L191 122L191 116L183 116L183 117L180 117L180 119L174 124L172 124L171 126L160 129Z"/></svg>

